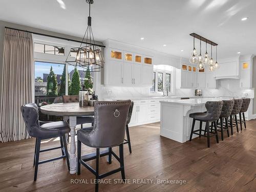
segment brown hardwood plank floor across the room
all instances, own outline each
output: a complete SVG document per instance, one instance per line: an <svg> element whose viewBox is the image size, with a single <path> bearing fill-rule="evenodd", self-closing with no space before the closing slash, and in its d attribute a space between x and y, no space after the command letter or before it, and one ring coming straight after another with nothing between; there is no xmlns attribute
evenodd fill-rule
<svg viewBox="0 0 256 192"><path fill-rule="evenodd" d="M159 133L160 123L130 127L133 152L129 154L128 146L124 146L124 163L127 182L131 183L114 183L114 179L121 179L119 172L105 178L112 183L100 184L99 191L256 191L256 120L248 121L246 130L229 138L225 133L219 144L211 137L210 148L206 138L182 144ZM37 181L33 182L34 144L35 139L0 143L0 191L94 191L90 183L94 175L83 166L80 176L70 175L62 159L39 165ZM58 145L58 139L41 144L42 148ZM82 145L82 154L92 150ZM118 148L114 151L118 154ZM60 150L45 152L40 159L58 155ZM91 164L94 167L94 161ZM112 164L102 157L99 170L104 173L118 166L114 157ZM72 183L71 179L82 183ZM133 179L140 183L133 183ZM153 179L153 183L143 183L146 179ZM186 183L157 183L166 179Z"/></svg>

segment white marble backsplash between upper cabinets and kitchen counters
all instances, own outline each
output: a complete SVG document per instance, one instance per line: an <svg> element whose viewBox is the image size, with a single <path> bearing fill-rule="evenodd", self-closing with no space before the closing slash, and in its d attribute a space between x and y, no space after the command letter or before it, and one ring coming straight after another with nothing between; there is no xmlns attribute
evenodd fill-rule
<svg viewBox="0 0 256 192"><path fill-rule="evenodd" d="M239 79L219 79L217 89L202 89L205 97L241 97L242 93L247 93L247 97L254 97L254 89L241 89ZM148 96L159 96L152 94L148 87L101 87L101 98L138 98ZM175 96L194 96L195 89L176 89Z"/></svg>

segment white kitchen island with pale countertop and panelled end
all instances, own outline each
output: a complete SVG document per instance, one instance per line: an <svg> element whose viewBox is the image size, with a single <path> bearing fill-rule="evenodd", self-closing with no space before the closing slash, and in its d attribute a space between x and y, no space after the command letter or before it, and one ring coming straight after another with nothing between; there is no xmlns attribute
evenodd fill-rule
<svg viewBox="0 0 256 192"><path fill-rule="evenodd" d="M160 101L160 135L184 143L189 140L193 119L189 114L205 112L207 101L221 101L231 98L195 98L184 100ZM203 129L204 129L203 123ZM195 129L199 127L196 121ZM198 135L193 135L193 138Z"/></svg>

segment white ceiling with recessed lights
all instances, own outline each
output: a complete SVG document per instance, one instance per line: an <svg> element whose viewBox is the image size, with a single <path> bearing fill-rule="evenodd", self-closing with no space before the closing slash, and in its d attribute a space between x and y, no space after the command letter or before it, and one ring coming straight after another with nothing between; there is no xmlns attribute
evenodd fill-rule
<svg viewBox="0 0 256 192"><path fill-rule="evenodd" d="M66 9L56 0L1 0L0 20L82 37L89 4L62 1ZM189 57L195 32L217 42L221 58L256 54L255 0L94 0L91 16L95 40Z"/></svg>

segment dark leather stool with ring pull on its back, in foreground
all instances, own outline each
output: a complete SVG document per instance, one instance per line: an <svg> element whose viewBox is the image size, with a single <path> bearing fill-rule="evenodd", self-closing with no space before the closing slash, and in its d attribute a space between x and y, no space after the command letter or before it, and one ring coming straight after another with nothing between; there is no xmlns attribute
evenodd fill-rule
<svg viewBox="0 0 256 192"><path fill-rule="evenodd" d="M95 191L98 191L98 179L121 172L122 180L125 180L123 141L125 135L125 125L131 100L126 101L96 101L94 104L95 123L93 129L77 131L77 175L80 175L81 164L88 168L96 177ZM96 154L81 157L81 143L95 147ZM112 151L112 147L119 146L119 157ZM109 148L102 151L100 148ZM99 174L99 158L109 156L111 163L112 155L119 161L120 167L110 172ZM96 159L96 169L93 169L87 161Z"/></svg>

